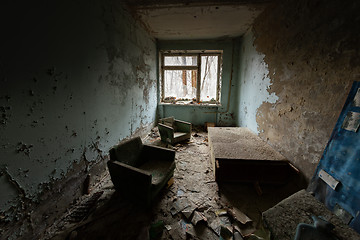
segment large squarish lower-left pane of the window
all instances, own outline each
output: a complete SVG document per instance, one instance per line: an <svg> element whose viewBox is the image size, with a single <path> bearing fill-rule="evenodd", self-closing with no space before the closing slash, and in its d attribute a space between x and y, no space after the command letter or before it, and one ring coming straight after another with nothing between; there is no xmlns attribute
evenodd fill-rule
<svg viewBox="0 0 360 240"><path fill-rule="evenodd" d="M164 100L193 100L196 98L196 70L165 70Z"/></svg>

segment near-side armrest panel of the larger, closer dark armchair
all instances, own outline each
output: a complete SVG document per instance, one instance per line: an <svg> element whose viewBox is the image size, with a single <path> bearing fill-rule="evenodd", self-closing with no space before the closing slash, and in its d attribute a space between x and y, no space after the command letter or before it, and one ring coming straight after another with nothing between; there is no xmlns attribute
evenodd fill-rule
<svg viewBox="0 0 360 240"><path fill-rule="evenodd" d="M135 194L149 194L151 173L118 161L107 162L111 180L118 190L127 190Z"/></svg>

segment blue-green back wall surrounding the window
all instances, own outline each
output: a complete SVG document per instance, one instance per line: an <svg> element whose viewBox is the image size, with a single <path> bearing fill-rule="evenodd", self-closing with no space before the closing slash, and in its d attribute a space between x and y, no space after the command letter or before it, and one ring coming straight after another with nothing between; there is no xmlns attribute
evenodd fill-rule
<svg viewBox="0 0 360 240"><path fill-rule="evenodd" d="M177 119L204 125L215 122L217 126L234 126L237 88L239 38L219 40L159 41L160 50L223 50L221 106L191 106L159 104L159 117L174 116ZM158 83L160 85L160 83Z"/></svg>

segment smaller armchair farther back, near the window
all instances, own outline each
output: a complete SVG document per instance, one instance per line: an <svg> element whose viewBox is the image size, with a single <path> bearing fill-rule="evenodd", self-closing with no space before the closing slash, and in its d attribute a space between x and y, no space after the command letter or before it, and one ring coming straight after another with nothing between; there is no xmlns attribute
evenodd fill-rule
<svg viewBox="0 0 360 240"><path fill-rule="evenodd" d="M175 144L191 137L191 123L174 119L162 118L158 124L161 141Z"/></svg>

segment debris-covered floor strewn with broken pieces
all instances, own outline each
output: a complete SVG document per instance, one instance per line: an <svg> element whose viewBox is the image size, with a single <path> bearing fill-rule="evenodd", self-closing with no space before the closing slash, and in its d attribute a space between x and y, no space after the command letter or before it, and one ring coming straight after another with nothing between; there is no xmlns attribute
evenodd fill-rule
<svg viewBox="0 0 360 240"><path fill-rule="evenodd" d="M105 174L48 228L44 239L269 239L261 213L300 189L295 181L260 186L261 192L252 184L218 185L207 133L201 129L174 147L161 143L156 128L144 142L176 150L174 182L151 209L116 192Z"/></svg>

